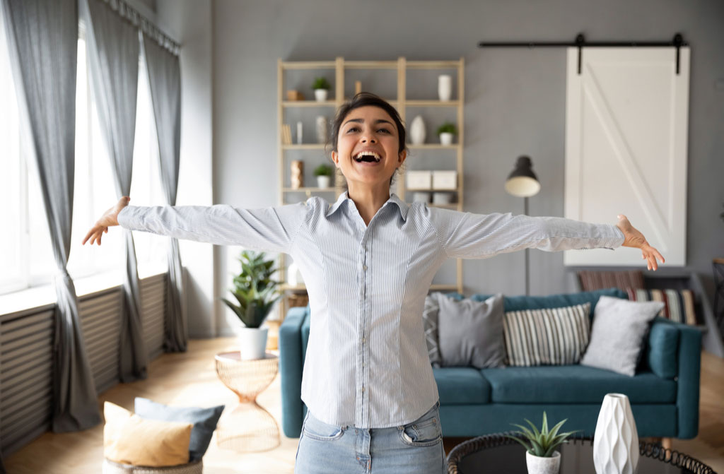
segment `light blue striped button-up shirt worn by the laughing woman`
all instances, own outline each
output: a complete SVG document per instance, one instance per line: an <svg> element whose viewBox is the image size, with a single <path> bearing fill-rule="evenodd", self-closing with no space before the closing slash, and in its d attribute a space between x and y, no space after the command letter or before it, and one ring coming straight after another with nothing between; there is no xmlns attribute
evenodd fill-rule
<svg viewBox="0 0 724 474"><path fill-rule="evenodd" d="M347 192L331 207L317 196L260 209L127 206L118 221L132 230L291 255L311 308L302 400L324 423L358 428L402 426L437 402L422 310L445 260L623 243L611 224L408 205L395 193L369 226Z"/></svg>

